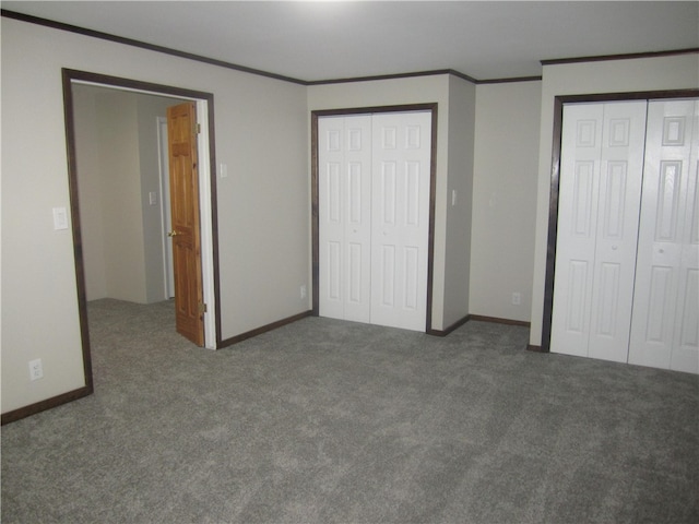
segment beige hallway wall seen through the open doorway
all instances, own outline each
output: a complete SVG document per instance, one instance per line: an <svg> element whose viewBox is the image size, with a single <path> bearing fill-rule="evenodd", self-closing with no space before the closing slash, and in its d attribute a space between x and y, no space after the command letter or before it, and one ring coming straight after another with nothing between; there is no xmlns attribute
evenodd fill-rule
<svg viewBox="0 0 699 524"><path fill-rule="evenodd" d="M180 102L73 86L87 300L165 298L156 118ZM149 202L151 191L155 205Z"/></svg>

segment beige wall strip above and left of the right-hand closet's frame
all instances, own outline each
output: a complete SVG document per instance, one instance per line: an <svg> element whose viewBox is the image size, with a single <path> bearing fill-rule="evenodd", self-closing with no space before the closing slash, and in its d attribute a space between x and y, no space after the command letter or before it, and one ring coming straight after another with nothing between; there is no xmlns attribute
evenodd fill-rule
<svg viewBox="0 0 699 524"><path fill-rule="evenodd" d="M555 97L697 87L699 87L699 55L697 53L544 67L530 334L532 345L542 344Z"/></svg>

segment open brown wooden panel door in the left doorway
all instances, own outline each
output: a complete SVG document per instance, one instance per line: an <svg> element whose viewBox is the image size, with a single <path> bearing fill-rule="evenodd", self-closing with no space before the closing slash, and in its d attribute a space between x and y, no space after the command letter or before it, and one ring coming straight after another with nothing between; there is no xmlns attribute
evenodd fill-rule
<svg viewBox="0 0 699 524"><path fill-rule="evenodd" d="M204 345L204 308L199 217L197 106L167 108L173 265L177 332Z"/></svg>

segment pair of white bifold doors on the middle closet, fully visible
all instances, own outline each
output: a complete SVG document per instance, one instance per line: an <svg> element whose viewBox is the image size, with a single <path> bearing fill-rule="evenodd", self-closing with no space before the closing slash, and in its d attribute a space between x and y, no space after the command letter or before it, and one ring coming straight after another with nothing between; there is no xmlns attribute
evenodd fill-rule
<svg viewBox="0 0 699 524"><path fill-rule="evenodd" d="M431 114L318 119L319 312L425 331Z"/></svg>

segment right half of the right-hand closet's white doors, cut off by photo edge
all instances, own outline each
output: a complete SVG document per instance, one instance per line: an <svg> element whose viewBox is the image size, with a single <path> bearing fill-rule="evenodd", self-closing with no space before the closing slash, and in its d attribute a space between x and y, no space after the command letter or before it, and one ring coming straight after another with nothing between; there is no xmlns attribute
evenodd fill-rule
<svg viewBox="0 0 699 524"><path fill-rule="evenodd" d="M699 103L651 102L629 361L699 372Z"/></svg>

